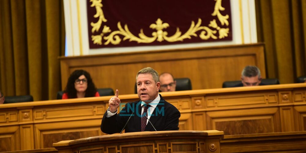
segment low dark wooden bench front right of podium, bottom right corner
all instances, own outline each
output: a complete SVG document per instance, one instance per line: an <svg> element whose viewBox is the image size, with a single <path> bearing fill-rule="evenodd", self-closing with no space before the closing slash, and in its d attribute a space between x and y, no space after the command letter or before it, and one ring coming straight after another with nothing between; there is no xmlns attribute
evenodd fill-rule
<svg viewBox="0 0 306 153"><path fill-rule="evenodd" d="M224 136L221 152L306 152L306 131Z"/></svg>

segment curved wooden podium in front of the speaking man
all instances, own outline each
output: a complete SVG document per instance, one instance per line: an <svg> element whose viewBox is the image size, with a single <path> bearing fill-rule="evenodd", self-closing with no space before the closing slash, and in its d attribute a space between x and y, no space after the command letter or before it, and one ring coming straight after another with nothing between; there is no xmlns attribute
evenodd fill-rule
<svg viewBox="0 0 306 153"><path fill-rule="evenodd" d="M54 143L59 153L130 153L130 152L220 152L223 132L208 131L157 131L130 132L95 136Z"/></svg>

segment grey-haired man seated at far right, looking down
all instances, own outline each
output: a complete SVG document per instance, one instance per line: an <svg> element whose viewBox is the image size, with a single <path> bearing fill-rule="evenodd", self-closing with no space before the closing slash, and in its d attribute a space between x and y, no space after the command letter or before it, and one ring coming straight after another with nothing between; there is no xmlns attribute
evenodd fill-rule
<svg viewBox="0 0 306 153"><path fill-rule="evenodd" d="M234 87L259 86L261 83L260 69L256 66L246 66L241 72L241 83Z"/></svg>

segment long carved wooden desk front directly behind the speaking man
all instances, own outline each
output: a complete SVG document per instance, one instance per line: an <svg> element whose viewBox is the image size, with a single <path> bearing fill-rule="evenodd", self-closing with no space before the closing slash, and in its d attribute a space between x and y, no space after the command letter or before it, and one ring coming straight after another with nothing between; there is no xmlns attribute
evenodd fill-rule
<svg viewBox="0 0 306 153"><path fill-rule="evenodd" d="M306 130L306 84L165 92L181 112L180 130L225 135ZM0 105L0 151L52 147L62 140L100 136L111 96ZM122 103L136 94L120 95Z"/></svg>

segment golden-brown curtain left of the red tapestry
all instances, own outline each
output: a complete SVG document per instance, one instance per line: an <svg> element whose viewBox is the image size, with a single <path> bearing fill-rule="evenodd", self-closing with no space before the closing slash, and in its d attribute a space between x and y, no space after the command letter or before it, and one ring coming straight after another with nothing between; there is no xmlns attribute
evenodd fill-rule
<svg viewBox="0 0 306 153"><path fill-rule="evenodd" d="M0 1L0 88L6 96L55 99L64 50L61 0Z"/></svg>

